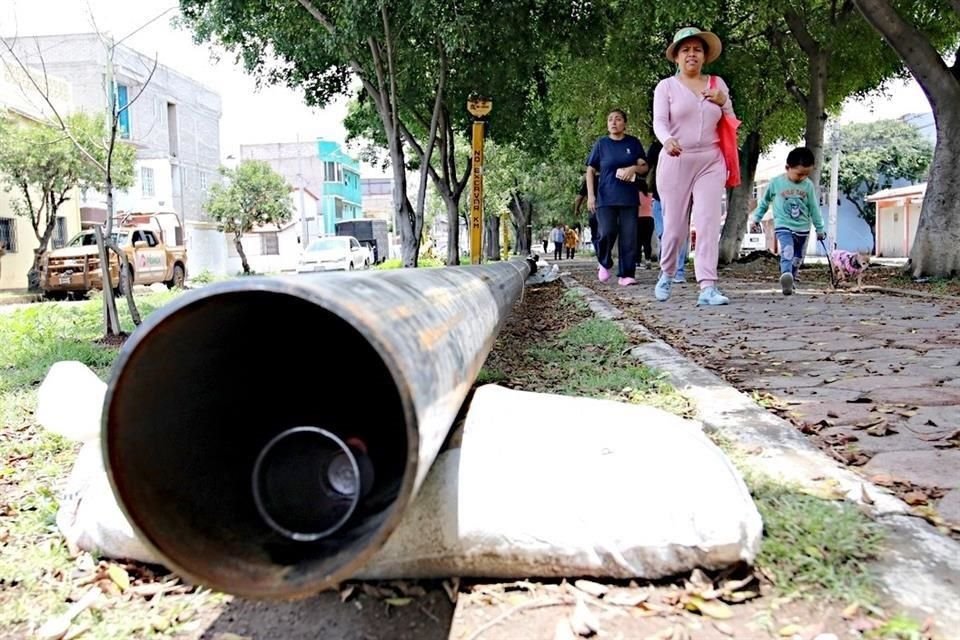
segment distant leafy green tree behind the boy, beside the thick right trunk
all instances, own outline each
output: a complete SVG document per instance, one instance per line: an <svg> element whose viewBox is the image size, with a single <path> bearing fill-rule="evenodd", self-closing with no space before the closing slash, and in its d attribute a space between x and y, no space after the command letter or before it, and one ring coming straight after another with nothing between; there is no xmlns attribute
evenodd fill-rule
<svg viewBox="0 0 960 640"><path fill-rule="evenodd" d="M830 155L828 151L828 160ZM872 230L876 209L866 196L897 180L922 181L932 158L930 141L902 120L847 125L840 129L840 191Z"/></svg>

